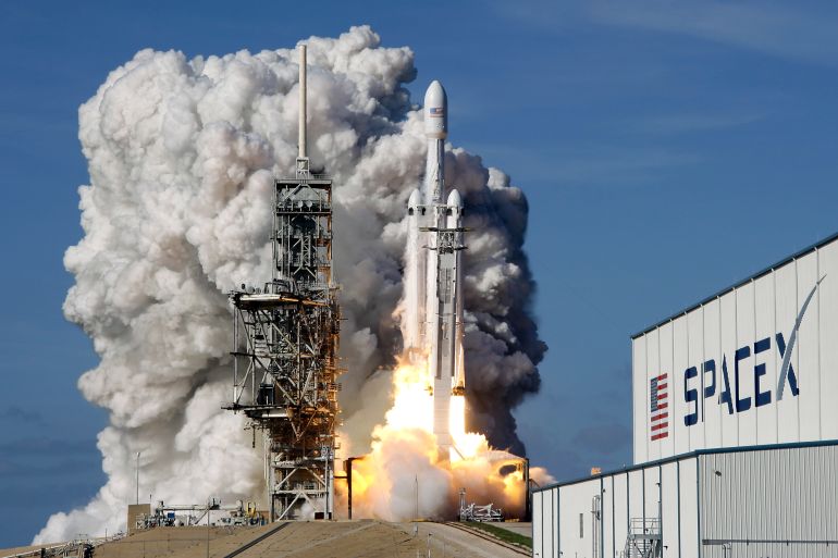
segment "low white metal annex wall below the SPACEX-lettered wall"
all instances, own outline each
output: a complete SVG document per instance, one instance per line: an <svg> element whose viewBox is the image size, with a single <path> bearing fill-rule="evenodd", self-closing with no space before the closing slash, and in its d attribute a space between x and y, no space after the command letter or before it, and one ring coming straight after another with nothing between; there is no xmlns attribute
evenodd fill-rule
<svg viewBox="0 0 838 558"><path fill-rule="evenodd" d="M665 558L838 558L838 445L691 455L545 488L533 555L619 558L629 520L658 517Z"/></svg>

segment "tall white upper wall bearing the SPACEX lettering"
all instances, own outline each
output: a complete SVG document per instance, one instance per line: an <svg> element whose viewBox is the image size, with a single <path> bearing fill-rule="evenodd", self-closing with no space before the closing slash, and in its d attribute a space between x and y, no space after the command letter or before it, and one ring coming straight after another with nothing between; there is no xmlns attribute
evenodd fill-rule
<svg viewBox="0 0 838 558"><path fill-rule="evenodd" d="M838 439L838 240L637 336L632 369L636 463ZM652 430L651 382L663 374L667 424Z"/></svg>

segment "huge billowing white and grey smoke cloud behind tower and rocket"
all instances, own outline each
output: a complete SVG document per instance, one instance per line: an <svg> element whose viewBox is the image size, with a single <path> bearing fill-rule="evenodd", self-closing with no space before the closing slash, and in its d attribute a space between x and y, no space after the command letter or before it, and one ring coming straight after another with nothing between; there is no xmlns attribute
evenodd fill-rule
<svg viewBox="0 0 838 558"><path fill-rule="evenodd" d="M404 88L414 55L381 47L369 27L306 42L309 154L336 185L342 432L365 452L390 402L377 370L399 350L402 220L424 169L421 111ZM108 482L86 507L50 518L36 541L124 526L138 451L141 500L262 492L243 417L221 410L232 392L225 293L270 276L272 181L296 156L296 57L144 50L79 109L90 184L79 188L84 238L65 256L75 285L64 312L100 357L78 386L110 413L98 438ZM510 411L538 389L545 350L529 313L527 202L478 157L451 148L446 157L446 183L464 194L473 228L465 256L470 425L522 454Z"/></svg>

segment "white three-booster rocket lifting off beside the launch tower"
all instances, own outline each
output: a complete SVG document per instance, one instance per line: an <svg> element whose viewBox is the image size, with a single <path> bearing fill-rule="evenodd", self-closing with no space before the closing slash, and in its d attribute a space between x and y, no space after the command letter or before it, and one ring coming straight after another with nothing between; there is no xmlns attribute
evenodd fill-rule
<svg viewBox="0 0 838 558"><path fill-rule="evenodd" d="M445 193L445 89L432 82L424 94L428 162L422 189L410 195L406 261L405 347L428 363L433 398L433 433L441 448L453 445L451 397L465 395L463 362L463 200ZM461 422L461 420L460 420Z"/></svg>

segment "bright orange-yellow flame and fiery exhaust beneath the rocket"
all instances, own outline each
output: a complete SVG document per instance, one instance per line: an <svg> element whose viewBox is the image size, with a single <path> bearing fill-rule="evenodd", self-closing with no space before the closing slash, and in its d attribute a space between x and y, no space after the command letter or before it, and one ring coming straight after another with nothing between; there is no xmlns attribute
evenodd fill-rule
<svg viewBox="0 0 838 558"><path fill-rule="evenodd" d="M433 434L433 399L428 365L402 359L393 373L394 399L384 424L372 432L371 451L352 467L353 517L386 521L453 519L459 491L466 500L503 508L507 518L523 513L522 459L490 447L485 436L466 429L466 400L451 398L451 455L440 455ZM549 481L543 469L530 475ZM345 489L338 497L346 501Z"/></svg>

